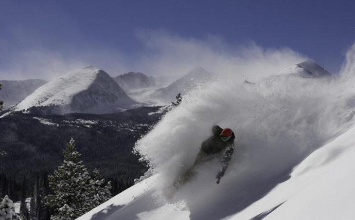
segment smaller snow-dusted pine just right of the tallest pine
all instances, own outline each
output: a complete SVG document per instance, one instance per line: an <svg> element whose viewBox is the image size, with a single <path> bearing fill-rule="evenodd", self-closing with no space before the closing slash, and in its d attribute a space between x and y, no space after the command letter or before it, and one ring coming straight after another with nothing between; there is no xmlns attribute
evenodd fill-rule
<svg viewBox="0 0 355 220"><path fill-rule="evenodd" d="M101 203L106 202L111 199L111 181L108 181L105 185L105 179L101 178L100 172L97 168L93 172L93 181L94 181L94 198L93 203L95 206L100 205Z"/></svg>

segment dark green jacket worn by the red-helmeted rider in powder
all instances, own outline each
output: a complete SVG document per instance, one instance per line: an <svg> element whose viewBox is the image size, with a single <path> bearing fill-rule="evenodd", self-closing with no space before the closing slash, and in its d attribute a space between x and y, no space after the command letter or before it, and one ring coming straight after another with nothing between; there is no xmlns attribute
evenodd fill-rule
<svg viewBox="0 0 355 220"><path fill-rule="evenodd" d="M208 155L221 154L222 166L216 176L217 179L220 179L224 175L224 172L226 171L231 161L231 156L233 155L234 151L234 132L232 133L230 140L222 141L221 137L219 136L222 130L223 129L219 126L213 126L213 135L206 141L202 142L201 145L201 151Z"/></svg>

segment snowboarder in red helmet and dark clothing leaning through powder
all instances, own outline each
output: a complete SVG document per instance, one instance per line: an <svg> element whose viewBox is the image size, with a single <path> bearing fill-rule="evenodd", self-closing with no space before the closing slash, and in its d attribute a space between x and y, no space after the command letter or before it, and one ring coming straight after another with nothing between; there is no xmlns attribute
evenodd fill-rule
<svg viewBox="0 0 355 220"><path fill-rule="evenodd" d="M235 135L231 128L220 128L213 126L213 135L202 142L200 151L197 153L194 164L188 168L182 175L179 176L175 182L175 187L179 188L185 184L190 177L195 175L196 166L209 161L215 156L221 156L221 168L216 175L216 183L218 184L224 175L234 151Z"/></svg>

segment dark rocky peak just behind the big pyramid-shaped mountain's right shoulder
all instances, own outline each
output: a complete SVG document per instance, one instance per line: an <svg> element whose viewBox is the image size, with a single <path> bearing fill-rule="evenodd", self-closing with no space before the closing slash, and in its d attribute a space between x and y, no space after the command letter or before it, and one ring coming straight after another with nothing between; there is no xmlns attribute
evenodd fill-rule
<svg viewBox="0 0 355 220"><path fill-rule="evenodd" d="M113 78L117 84L125 91L128 92L132 89L143 89L149 87L155 87L155 79L151 76L147 76L143 73L124 73Z"/></svg>

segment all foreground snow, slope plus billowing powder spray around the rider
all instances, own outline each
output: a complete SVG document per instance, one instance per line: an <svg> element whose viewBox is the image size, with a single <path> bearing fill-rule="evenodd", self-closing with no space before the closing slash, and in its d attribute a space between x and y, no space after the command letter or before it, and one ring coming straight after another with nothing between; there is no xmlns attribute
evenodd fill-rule
<svg viewBox="0 0 355 220"><path fill-rule="evenodd" d="M185 95L137 143L153 177L79 219L353 219L355 130L348 129L354 126L355 47L341 77L332 80L298 77L293 71L274 75L302 61L287 52L239 61L234 75L219 77L228 80ZM243 75L256 84L243 83ZM221 182L215 184L220 163L212 161L172 199L164 197L215 124L236 134L235 153ZM124 200L130 196L135 199ZM109 213L99 217L106 207Z"/></svg>

